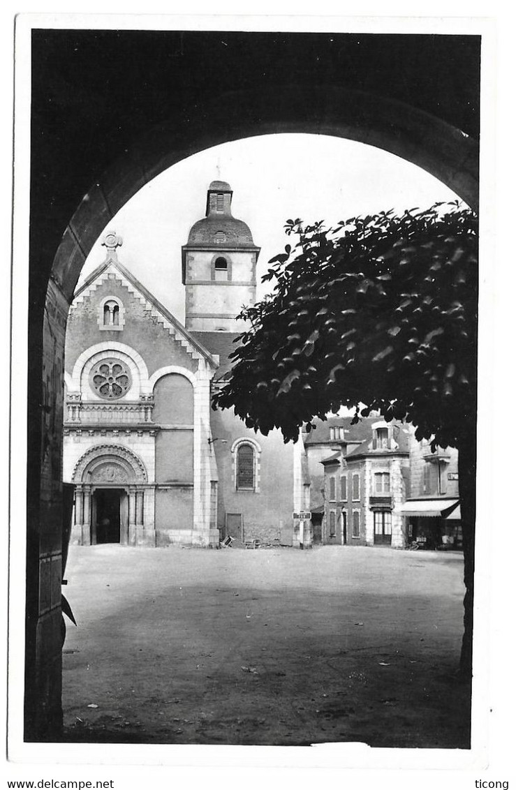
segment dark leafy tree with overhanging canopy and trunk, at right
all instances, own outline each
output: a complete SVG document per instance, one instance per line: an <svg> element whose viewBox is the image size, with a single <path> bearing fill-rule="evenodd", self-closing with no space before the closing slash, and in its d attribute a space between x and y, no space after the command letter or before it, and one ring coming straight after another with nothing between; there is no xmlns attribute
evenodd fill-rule
<svg viewBox="0 0 516 790"><path fill-rule="evenodd" d="M458 201L360 216L325 228L288 220L269 261L273 293L243 310L231 378L213 408L285 442L341 405L416 426L459 450L470 673L476 465L478 221Z"/></svg>

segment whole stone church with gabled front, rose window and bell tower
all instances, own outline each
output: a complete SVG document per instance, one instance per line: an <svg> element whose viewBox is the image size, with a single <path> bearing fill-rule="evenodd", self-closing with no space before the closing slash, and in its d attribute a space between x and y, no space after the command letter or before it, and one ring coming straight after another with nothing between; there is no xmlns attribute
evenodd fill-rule
<svg viewBox="0 0 516 790"><path fill-rule="evenodd" d="M259 248L212 182L183 246L182 325L119 261L81 285L66 331L63 480L73 484L71 542L216 547L299 542L292 513L309 505L303 443L264 437L213 412L236 319L256 293Z"/></svg>

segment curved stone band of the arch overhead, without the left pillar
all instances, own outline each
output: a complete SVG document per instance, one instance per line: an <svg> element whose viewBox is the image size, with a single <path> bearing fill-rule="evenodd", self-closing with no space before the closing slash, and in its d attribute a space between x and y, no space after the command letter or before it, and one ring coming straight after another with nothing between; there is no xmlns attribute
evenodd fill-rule
<svg viewBox="0 0 516 790"><path fill-rule="evenodd" d="M235 111L238 110L238 111ZM333 85L235 91L191 107L134 141L104 171L70 218L52 277L70 301L82 266L113 216L156 175L194 153L262 134L343 137L400 156L435 175L473 209L478 205L478 142L409 104Z"/></svg>

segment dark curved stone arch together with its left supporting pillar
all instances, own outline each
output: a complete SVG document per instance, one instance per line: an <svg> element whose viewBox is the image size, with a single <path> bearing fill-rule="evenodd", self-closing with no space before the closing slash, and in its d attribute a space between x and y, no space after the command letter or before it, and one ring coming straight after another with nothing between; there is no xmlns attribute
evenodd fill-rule
<svg viewBox="0 0 516 790"><path fill-rule="evenodd" d="M303 132L360 141L423 167L476 208L478 145L442 119L409 104L347 88L320 86L307 116L307 99L292 86L254 88L189 107L184 119L149 130L92 184L63 228L44 309L33 311L29 373L26 722L28 737L56 732L61 721L59 600L41 608L40 583L62 546L62 370L66 319L77 278L105 225L133 195L171 165L220 142L257 134ZM238 109L238 112L236 112ZM232 119L228 123L228 119ZM230 130L230 131L228 131ZM37 313L37 314L36 314ZM40 323L38 323L40 321ZM36 358L37 357L37 358ZM42 384L43 382L43 384ZM33 418L32 418L33 419ZM41 581L40 581L41 580ZM57 581L58 584L58 581ZM43 596L46 600L47 596ZM37 637L36 637L37 634Z"/></svg>

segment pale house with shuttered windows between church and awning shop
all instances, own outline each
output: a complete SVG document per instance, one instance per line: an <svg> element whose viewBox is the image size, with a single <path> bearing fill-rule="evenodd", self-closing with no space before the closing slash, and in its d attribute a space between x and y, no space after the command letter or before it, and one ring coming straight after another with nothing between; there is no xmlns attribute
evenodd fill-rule
<svg viewBox="0 0 516 790"><path fill-rule="evenodd" d="M338 449L321 461L322 543L405 547L406 519L399 511L410 493L411 428L378 417L364 418L357 426L351 419L340 422L329 426L330 441L338 442Z"/></svg>

